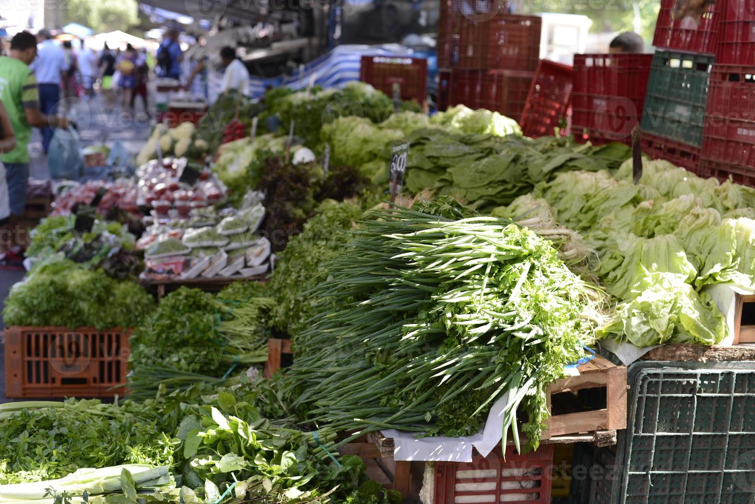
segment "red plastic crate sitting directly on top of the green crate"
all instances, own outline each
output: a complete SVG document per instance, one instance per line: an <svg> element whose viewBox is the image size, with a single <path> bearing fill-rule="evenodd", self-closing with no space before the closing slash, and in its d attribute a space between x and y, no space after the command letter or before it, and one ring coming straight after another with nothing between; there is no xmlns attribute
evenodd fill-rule
<svg viewBox="0 0 755 504"><path fill-rule="evenodd" d="M661 0L658 21L655 23L653 45L656 48L678 49L695 53L716 52L718 41L720 7L714 3L699 21L692 17L673 19L671 11L676 0Z"/></svg>

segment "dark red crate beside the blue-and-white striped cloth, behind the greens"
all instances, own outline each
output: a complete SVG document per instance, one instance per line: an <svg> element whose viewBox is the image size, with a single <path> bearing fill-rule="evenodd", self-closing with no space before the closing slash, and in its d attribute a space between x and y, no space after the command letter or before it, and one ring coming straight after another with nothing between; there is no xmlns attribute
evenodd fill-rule
<svg viewBox="0 0 755 504"><path fill-rule="evenodd" d="M401 86L401 99L427 100L427 60L425 58L362 56L359 80L393 96L393 85Z"/></svg>

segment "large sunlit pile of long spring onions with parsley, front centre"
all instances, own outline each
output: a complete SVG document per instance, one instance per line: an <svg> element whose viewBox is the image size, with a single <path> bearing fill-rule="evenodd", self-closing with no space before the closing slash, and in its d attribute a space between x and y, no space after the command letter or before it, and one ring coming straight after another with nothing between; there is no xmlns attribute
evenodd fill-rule
<svg viewBox="0 0 755 504"><path fill-rule="evenodd" d="M379 211L330 264L294 339L295 404L336 429L478 431L508 393L504 431L536 447L545 387L583 355L599 293L532 232L495 217ZM504 443L506 432L504 432Z"/></svg>

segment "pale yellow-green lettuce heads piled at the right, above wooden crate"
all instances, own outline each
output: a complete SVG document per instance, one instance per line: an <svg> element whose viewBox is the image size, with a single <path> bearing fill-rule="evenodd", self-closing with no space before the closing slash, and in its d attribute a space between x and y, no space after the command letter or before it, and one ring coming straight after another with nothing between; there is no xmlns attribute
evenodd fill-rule
<svg viewBox="0 0 755 504"><path fill-rule="evenodd" d="M667 161L644 161L637 185L631 177L631 161L613 175L565 172L494 213L547 212L597 250L593 272L618 300L599 337L720 343L729 329L705 287L755 287L755 189Z"/></svg>

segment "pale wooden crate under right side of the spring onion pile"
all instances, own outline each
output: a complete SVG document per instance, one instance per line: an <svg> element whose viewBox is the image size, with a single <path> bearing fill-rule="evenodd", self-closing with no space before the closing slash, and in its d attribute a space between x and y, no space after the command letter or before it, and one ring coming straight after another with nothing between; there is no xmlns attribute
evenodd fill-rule
<svg viewBox="0 0 755 504"><path fill-rule="evenodd" d="M627 428L627 368L612 364L597 355L592 361L581 364L576 369L578 376L566 376L556 380L548 388L547 401L551 416L541 439ZM568 406L560 409L554 407L554 395L584 389L605 390L606 407L588 411L569 411Z"/></svg>

